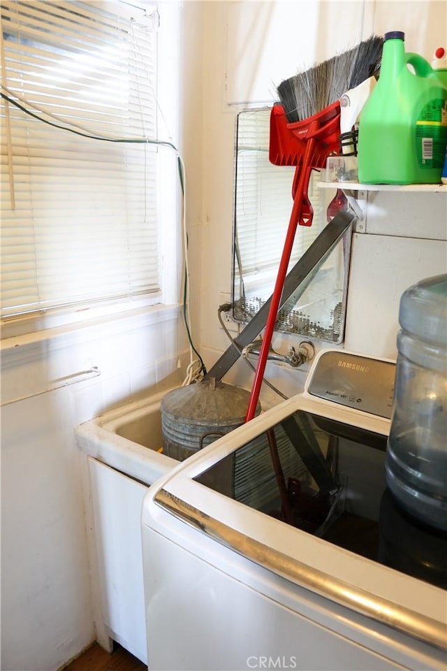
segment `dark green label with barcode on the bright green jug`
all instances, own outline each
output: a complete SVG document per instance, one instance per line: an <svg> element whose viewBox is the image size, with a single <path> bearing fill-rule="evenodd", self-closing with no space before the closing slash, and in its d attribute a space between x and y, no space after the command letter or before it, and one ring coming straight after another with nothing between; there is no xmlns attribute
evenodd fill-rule
<svg viewBox="0 0 447 671"><path fill-rule="evenodd" d="M416 121L416 156L420 168L444 165L447 143L447 101L433 99Z"/></svg>

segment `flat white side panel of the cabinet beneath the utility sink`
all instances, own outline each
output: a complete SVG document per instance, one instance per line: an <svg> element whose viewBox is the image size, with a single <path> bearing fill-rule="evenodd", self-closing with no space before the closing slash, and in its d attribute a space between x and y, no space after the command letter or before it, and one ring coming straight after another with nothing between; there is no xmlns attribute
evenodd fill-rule
<svg viewBox="0 0 447 671"><path fill-rule="evenodd" d="M100 628L147 663L141 507L147 486L87 457Z"/></svg>

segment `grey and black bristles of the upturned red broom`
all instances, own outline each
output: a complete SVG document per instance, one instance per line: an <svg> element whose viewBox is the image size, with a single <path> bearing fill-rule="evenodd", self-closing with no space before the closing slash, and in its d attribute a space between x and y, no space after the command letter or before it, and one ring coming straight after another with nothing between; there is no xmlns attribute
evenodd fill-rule
<svg viewBox="0 0 447 671"><path fill-rule="evenodd" d="M281 82L279 101L288 123L312 117L380 67L383 38L372 36L356 47Z"/></svg>

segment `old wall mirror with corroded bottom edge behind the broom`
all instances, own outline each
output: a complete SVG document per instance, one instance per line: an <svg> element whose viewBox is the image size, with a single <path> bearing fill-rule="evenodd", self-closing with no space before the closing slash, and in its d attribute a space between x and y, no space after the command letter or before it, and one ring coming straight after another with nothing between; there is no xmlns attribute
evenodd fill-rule
<svg viewBox="0 0 447 671"><path fill-rule="evenodd" d="M281 207L283 210L280 217L281 222L281 233L279 233L279 240L284 244L284 239L286 236L286 231L288 229L288 223L290 220L291 210L293 207L293 198L291 194L293 178L295 175L295 168L293 166L274 166L268 161L268 147L270 143L270 112L274 103L269 106L263 107L249 107L241 108L235 120L235 180L234 180L234 199L233 199L233 264L232 264L232 287L231 287L231 299L232 299L232 316L235 322L240 324L247 324L251 319L254 318L258 310L265 303L265 301L272 296L274 291L274 284L277 277L277 270L279 266L279 260L282 254L282 247L279 245L279 257L275 261L272 261L269 266L266 266L267 270L263 273L259 273L259 282L256 280L256 272L252 271L251 277L249 277L249 283L247 286L244 283L244 279L241 279L240 272L240 249L238 248L237 240L237 210L240 201L244 204L244 198L238 198L237 190L240 187L240 184L244 185L244 178L240 179L240 173L238 168L240 168L238 161L239 154L239 145L240 145L240 117L241 115L256 115L256 113L262 113L263 118L258 121L258 124L261 127L261 131L258 131L258 127L254 130L256 135L256 143L251 143L250 133L253 132L253 129L250 127L251 121L247 122L249 127L249 135L244 136L242 132L242 150L247 152L254 152L256 154L265 154L263 161L261 161L261 168L258 170L258 167L254 171L249 171L247 173L248 180L251 180L255 184L255 195L250 194L250 199L247 199L249 206L251 208L258 208L256 212L251 210L251 217L254 219L254 229L256 229L255 238L258 236L258 223L259 219L263 219L262 210L262 201L264 199L262 185L268 185L268 195L266 201L270 199L273 202L273 205L278 203L278 196L281 203L278 203L278 209ZM253 125L253 124L251 124ZM255 125L256 121L255 121ZM259 133L259 134L258 134ZM247 139L248 137L248 139ZM241 140L241 142L242 142ZM256 166L258 166L258 161L256 161ZM242 171L242 170L241 170ZM312 170L311 179L309 182L309 199L312 202L314 208L314 219L312 222L312 227L307 226L298 226L297 233L295 235L295 240L293 244L293 251L291 254L291 259L288 264L288 270L291 270L292 266L300 259L302 254L305 253L309 245L317 237L318 233L323 231L326 222L327 222L327 210L330 201L335 196L337 189L320 189L318 187L318 182L321 180L320 171L314 169ZM282 176L281 176L282 175ZM275 190L273 185L278 184L279 180L281 181L281 188L279 191ZM259 195L261 194L261 195ZM251 203L251 205L250 205ZM253 205L255 203L255 205ZM261 203L261 206L260 206ZM266 211L268 208L271 208L271 203L267 205ZM276 217L276 212L274 217ZM272 233L272 230L277 231L277 228L272 229L274 224L278 223L277 218L274 219L274 223L269 220L269 217L265 217L265 221L268 224L268 234ZM265 222L264 222L265 224ZM240 222L239 222L240 225ZM301 237L301 240L299 239ZM251 244L251 243L250 243ZM348 287L348 278L349 278L349 248L351 245L351 231L346 233L346 236L339 240L337 245L332 248L332 251L326 259L323 259L318 266L314 269L312 275L309 276L309 282L306 283L305 289L300 292L298 291L298 302L294 304L294 301L297 300L296 296L292 296L289 299L288 303L284 305L284 308L278 311L277 320L274 326L274 333L282 333L284 335L298 335L305 338L312 338L312 340L318 340L321 342L329 342L331 345L339 345L344 340L344 322L346 314L346 300L347 300L347 287ZM256 254L254 254L256 257ZM244 264L242 264L243 266ZM258 270L256 266L252 266L254 270ZM243 273L242 273L243 274ZM270 275L270 277L266 276ZM335 280L335 282L332 282ZM335 286L337 287L333 291L332 295L328 292L328 287ZM323 290L321 287L324 287ZM245 295L245 289L247 295ZM257 291L258 295L254 294ZM335 294L338 293L337 298L339 301L331 306L330 303ZM306 301L309 301L306 305ZM318 308L314 308L314 305L325 305L323 312L318 312ZM309 310L309 312L306 312ZM318 316L316 317L316 312ZM321 321L320 321L321 319Z"/></svg>

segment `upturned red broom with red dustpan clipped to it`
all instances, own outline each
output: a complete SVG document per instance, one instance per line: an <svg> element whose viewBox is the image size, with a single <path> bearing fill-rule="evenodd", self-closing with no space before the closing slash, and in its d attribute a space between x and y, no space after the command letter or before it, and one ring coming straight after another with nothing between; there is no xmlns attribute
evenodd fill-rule
<svg viewBox="0 0 447 671"><path fill-rule="evenodd" d="M348 52L285 80L277 89L281 106L275 105L270 115L269 158L274 165L296 166L293 208L245 421L256 414L295 231L298 224L312 224L312 205L307 195L311 170L322 168L330 153L339 152L339 99L377 70L382 45L382 38L369 38Z"/></svg>

